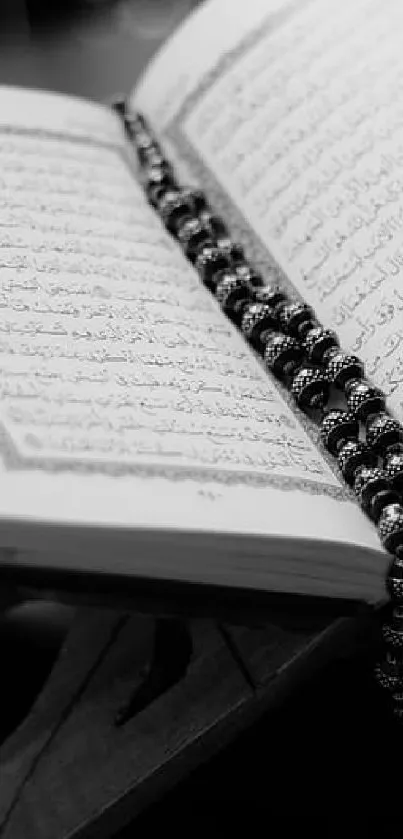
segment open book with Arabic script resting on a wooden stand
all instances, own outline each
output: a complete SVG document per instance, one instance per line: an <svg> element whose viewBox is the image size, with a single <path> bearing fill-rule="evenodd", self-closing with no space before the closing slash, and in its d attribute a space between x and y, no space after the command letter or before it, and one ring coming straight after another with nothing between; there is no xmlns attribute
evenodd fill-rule
<svg viewBox="0 0 403 839"><path fill-rule="evenodd" d="M210 0L129 101L403 419L399 0ZM0 579L382 601L313 425L147 203L118 115L0 90Z"/></svg>

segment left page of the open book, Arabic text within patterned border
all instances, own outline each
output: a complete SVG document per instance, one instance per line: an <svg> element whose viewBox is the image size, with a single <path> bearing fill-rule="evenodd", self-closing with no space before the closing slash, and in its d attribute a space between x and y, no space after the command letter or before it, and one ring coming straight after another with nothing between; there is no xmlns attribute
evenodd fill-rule
<svg viewBox="0 0 403 839"><path fill-rule="evenodd" d="M147 204L117 117L3 89L0 161L0 544L65 524L377 547Z"/></svg>

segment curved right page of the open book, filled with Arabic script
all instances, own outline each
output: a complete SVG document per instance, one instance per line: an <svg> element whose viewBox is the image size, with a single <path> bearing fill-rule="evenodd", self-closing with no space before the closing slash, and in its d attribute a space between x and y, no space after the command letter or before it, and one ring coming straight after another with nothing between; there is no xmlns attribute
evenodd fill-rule
<svg viewBox="0 0 403 839"><path fill-rule="evenodd" d="M400 0L210 0L133 101L403 419Z"/></svg>

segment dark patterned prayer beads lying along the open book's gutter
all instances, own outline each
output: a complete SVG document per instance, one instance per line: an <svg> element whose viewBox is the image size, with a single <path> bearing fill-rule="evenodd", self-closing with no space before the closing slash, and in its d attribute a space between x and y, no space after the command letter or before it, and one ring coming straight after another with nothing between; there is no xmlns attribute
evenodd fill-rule
<svg viewBox="0 0 403 839"><path fill-rule="evenodd" d="M317 422L323 445L391 554L386 577L391 602L375 675L403 722L403 426L388 413L382 391L365 379L361 360L341 349L311 307L279 285L264 283L204 193L178 183L144 116L122 105L116 109L136 151L148 201L224 314ZM345 409L329 407L335 389Z"/></svg>

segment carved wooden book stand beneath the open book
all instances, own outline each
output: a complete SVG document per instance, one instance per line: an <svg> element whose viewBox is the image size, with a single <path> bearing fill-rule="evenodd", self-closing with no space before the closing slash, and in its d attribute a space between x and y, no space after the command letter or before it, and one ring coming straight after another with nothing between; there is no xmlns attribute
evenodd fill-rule
<svg viewBox="0 0 403 839"><path fill-rule="evenodd" d="M78 609L42 692L0 749L2 839L106 839L306 679L362 622Z"/></svg>

